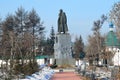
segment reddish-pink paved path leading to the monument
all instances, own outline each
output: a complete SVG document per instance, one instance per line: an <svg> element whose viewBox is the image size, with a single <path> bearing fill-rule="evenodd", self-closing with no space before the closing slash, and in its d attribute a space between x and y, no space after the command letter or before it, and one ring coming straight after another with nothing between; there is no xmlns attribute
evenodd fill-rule
<svg viewBox="0 0 120 80"><path fill-rule="evenodd" d="M82 80L80 75L74 72L56 72L51 80Z"/></svg>

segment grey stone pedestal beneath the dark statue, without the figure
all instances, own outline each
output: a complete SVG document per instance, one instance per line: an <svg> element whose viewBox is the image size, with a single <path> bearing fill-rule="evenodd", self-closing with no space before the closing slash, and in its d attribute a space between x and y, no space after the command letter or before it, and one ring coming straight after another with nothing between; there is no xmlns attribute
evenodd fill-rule
<svg viewBox="0 0 120 80"><path fill-rule="evenodd" d="M71 36L69 33L58 33L55 37L54 44L54 58L57 65L73 65L74 60L72 58L71 51Z"/></svg>

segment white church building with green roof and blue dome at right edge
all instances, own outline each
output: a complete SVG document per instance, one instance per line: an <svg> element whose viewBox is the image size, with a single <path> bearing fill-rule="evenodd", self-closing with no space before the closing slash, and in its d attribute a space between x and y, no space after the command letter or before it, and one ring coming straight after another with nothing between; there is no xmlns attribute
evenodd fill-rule
<svg viewBox="0 0 120 80"><path fill-rule="evenodd" d="M114 32L113 23L109 24L109 32L105 37L105 55L106 58L103 59L103 64L108 65L120 65L120 42ZM116 62L117 60L117 62Z"/></svg>

